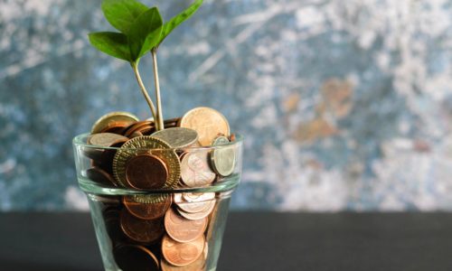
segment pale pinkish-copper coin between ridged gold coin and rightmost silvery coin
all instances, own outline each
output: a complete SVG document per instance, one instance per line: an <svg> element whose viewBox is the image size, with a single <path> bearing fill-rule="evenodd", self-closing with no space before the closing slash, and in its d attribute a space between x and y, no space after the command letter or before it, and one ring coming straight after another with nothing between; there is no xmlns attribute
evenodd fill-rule
<svg viewBox="0 0 452 271"><path fill-rule="evenodd" d="M181 162L181 177L189 187L211 184L216 177L208 164L208 151L193 151L184 154Z"/></svg>

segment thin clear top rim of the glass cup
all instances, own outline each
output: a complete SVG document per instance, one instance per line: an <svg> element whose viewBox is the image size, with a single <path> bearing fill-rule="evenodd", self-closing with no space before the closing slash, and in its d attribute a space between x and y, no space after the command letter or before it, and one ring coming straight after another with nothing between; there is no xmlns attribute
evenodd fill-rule
<svg viewBox="0 0 452 271"><path fill-rule="evenodd" d="M115 146L103 146L103 145L90 145L86 142L86 138L88 138L90 133L83 133L80 135L74 136L72 139L72 145L81 146L84 148L92 148L92 149L105 149L105 150L130 150L130 151L140 151L140 150L149 150L149 148L123 148L123 147L115 147ZM150 135L152 136L152 135ZM187 147L170 147L170 148L155 148L153 151L171 151L171 150L186 150L186 151L208 151L217 148L224 148L226 146L236 146L241 145L243 143L243 135L235 134L236 138L234 141L230 143L225 143L221 145L206 145L206 146L187 146Z"/></svg>

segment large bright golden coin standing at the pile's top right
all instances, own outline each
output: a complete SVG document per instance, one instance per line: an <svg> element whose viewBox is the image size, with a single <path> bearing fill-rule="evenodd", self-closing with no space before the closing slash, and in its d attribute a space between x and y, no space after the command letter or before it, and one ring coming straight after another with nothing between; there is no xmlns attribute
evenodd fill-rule
<svg viewBox="0 0 452 271"><path fill-rule="evenodd" d="M182 117L179 126L198 132L198 141L202 146L211 145L218 134L229 136L230 127L226 117L215 109L197 107Z"/></svg>

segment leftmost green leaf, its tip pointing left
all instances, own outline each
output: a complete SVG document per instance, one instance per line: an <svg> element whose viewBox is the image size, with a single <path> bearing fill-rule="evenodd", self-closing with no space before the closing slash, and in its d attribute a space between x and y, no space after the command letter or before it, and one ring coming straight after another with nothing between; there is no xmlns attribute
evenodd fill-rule
<svg viewBox="0 0 452 271"><path fill-rule="evenodd" d="M89 33L89 42L99 51L103 51L124 61L131 60L127 36L123 33Z"/></svg>

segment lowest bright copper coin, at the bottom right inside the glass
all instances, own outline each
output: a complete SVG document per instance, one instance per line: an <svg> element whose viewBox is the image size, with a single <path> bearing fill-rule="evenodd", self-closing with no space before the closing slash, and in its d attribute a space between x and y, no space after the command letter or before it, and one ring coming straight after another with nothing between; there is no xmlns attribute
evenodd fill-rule
<svg viewBox="0 0 452 271"><path fill-rule="evenodd" d="M165 235L162 240L162 254L173 266L188 266L202 255L204 243L203 235L189 243L180 243Z"/></svg>

